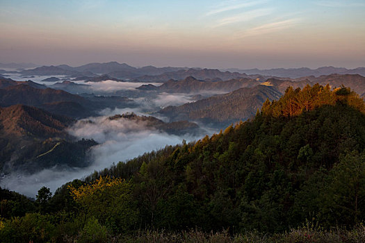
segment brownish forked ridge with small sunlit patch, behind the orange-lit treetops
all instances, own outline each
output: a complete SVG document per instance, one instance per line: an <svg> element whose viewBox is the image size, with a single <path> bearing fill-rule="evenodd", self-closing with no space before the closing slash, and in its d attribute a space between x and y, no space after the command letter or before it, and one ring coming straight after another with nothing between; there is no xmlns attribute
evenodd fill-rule
<svg viewBox="0 0 365 243"><path fill-rule="evenodd" d="M187 119L222 128L236 121L252 117L266 99L279 99L288 87L304 89L315 83L329 84L332 88L341 87L341 85L354 87L353 90L364 97L365 77L358 74L331 74L318 78L306 77L300 81L268 78L265 82L250 78L211 82L198 81L189 77L182 81L168 81L159 87L143 85L139 88L164 92L203 92L204 90L213 90L214 87L223 90L229 90L229 87L245 87L228 94L219 94L193 103L186 103L182 106L169 106L158 112L160 115L169 117L172 121Z"/></svg>

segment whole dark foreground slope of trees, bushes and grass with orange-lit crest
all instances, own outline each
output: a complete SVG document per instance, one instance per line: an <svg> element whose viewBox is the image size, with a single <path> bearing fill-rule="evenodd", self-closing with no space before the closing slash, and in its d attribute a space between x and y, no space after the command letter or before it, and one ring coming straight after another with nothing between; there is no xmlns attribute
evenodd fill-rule
<svg viewBox="0 0 365 243"><path fill-rule="evenodd" d="M120 162L54 196L43 187L32 202L2 190L0 239L364 242L364 113L346 87L289 88L252 121Z"/></svg>

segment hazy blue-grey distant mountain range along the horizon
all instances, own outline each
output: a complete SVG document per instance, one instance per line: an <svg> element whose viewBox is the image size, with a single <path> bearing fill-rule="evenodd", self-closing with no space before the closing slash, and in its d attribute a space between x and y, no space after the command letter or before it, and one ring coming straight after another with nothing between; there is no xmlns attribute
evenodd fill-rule
<svg viewBox="0 0 365 243"><path fill-rule="evenodd" d="M1 65L0 65L1 67ZM232 78L299 78L303 76L323 76L329 74L359 74L365 76L365 67L346 69L344 67L318 67L309 69L300 68L277 68L277 69L202 69L188 67L132 67L126 63L103 62L89 63L79 67L69 65L42 66L35 69L23 70L24 76L31 75L65 75L74 78L82 77L84 80L99 75L107 74L111 78L127 79L139 82L167 82L170 79L181 80L193 76L200 80L214 81L222 79L227 81Z"/></svg>

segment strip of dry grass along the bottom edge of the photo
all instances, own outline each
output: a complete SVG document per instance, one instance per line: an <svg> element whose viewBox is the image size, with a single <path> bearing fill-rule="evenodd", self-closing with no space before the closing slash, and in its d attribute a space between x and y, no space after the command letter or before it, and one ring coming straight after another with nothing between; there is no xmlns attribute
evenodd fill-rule
<svg viewBox="0 0 365 243"><path fill-rule="evenodd" d="M67 242L79 242L69 238ZM365 242L365 226L359 224L352 230L334 228L325 230L318 226L302 226L286 233L273 235L251 231L237 235L230 235L227 231L218 233L204 233L199 230L192 231L138 231L133 235L109 235L106 242L126 243L248 243L248 242L278 242L278 243L307 243L307 242L333 242L333 243L360 243Z"/></svg>

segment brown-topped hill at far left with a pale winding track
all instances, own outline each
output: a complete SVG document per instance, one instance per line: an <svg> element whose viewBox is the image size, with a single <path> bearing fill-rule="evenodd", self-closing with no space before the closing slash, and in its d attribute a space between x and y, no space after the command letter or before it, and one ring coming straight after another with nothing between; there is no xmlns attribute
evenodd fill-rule
<svg viewBox="0 0 365 243"><path fill-rule="evenodd" d="M86 151L96 142L74 141L65 132L72 122L30 106L0 108L0 171L86 165Z"/></svg>

